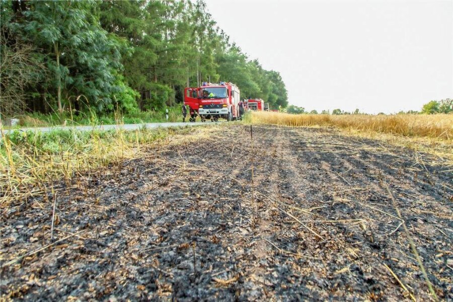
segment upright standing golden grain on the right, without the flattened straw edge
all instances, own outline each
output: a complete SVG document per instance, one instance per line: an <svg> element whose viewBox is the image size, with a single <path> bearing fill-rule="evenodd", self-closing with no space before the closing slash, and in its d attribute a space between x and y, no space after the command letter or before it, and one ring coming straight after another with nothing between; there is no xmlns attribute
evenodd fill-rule
<svg viewBox="0 0 453 302"><path fill-rule="evenodd" d="M381 132L408 137L453 139L452 114L328 115L253 112L252 123L284 126L333 126L362 132Z"/></svg>

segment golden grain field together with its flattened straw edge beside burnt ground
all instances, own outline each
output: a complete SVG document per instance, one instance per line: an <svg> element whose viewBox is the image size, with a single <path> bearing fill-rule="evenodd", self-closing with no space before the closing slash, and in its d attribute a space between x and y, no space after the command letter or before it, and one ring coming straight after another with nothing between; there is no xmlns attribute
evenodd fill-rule
<svg viewBox="0 0 453 302"><path fill-rule="evenodd" d="M335 127L342 133L382 140L426 152L453 165L453 115L327 115L252 112L246 123L294 127ZM339 132L340 133L340 132Z"/></svg>

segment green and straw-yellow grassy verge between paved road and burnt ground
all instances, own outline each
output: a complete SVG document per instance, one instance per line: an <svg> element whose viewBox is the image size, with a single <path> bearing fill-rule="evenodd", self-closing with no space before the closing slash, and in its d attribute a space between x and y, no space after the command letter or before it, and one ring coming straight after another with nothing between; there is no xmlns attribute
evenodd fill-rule
<svg viewBox="0 0 453 302"><path fill-rule="evenodd" d="M193 141L205 133L206 127L12 131L0 140L0 207L46 195L52 190L46 184L55 180L71 186L77 173L136 158L149 145Z"/></svg>

